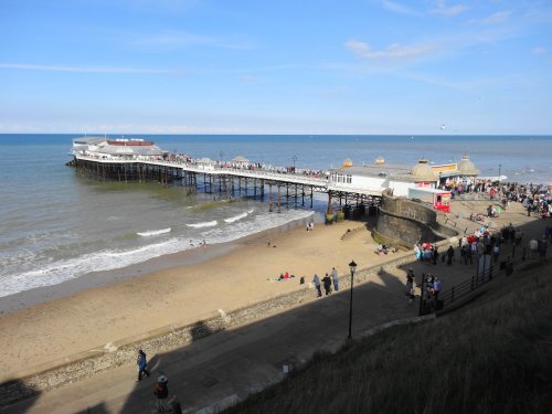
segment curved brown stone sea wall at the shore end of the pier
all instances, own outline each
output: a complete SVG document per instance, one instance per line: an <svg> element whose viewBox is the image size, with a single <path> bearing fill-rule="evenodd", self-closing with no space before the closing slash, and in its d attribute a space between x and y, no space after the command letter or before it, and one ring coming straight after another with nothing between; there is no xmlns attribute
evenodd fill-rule
<svg viewBox="0 0 552 414"><path fill-rule="evenodd" d="M457 235L437 222L435 210L403 197L393 197L389 191L382 194L375 233L389 244L406 246Z"/></svg>

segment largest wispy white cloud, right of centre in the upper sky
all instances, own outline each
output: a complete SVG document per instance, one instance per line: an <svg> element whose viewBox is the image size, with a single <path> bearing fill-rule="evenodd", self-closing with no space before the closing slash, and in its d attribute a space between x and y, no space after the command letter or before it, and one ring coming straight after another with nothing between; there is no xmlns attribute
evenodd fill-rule
<svg viewBox="0 0 552 414"><path fill-rule="evenodd" d="M374 51L368 43L350 40L346 42L346 47L357 56L365 60L384 61L408 61L427 55L438 47L434 44L422 44L418 46L403 46L399 43L390 44L386 49Z"/></svg>

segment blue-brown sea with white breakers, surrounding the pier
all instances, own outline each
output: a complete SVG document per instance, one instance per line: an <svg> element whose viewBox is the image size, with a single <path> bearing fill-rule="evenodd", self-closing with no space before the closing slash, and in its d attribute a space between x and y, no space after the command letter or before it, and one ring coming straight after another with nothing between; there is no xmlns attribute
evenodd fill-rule
<svg viewBox="0 0 552 414"><path fill-rule="evenodd" d="M261 200L213 200L178 184L99 182L65 163L82 135L0 135L0 301L24 290L92 278L163 255L233 243L289 223L320 222L312 209L269 212ZM120 138L118 135L108 136ZM125 136L192 158L244 156L274 167L328 170L353 164L457 162L481 176L552 184L552 136ZM216 195L216 194L215 194Z"/></svg>

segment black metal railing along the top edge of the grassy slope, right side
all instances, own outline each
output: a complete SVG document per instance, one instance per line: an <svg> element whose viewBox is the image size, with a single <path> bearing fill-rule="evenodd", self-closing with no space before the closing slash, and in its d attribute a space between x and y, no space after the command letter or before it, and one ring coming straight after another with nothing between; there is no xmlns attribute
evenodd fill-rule
<svg viewBox="0 0 552 414"><path fill-rule="evenodd" d="M436 310L442 310L447 306L450 306L453 302L464 299L501 273L511 275L513 266L523 262L526 257L526 248L518 248L518 252L516 252L516 245L513 245L512 254L502 261L493 259L492 255L482 255L478 261L477 272L474 276L458 285L453 286L450 289L436 297L427 294L427 290L424 288L426 284L424 280L422 284L420 315L428 315Z"/></svg>

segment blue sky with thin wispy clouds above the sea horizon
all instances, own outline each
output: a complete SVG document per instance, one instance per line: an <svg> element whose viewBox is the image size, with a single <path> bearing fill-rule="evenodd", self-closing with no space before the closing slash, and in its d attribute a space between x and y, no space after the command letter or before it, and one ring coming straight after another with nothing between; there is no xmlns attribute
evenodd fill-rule
<svg viewBox="0 0 552 414"><path fill-rule="evenodd" d="M0 134L552 134L550 0L0 0Z"/></svg>

